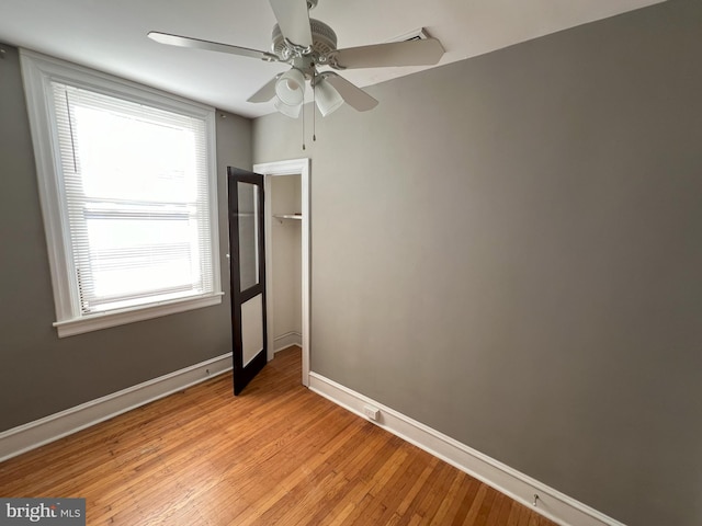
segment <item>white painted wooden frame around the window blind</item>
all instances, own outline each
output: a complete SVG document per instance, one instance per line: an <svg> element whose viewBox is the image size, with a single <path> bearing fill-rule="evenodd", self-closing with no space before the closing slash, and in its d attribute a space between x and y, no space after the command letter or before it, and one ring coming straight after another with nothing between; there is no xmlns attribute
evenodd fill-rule
<svg viewBox="0 0 702 526"><path fill-rule="evenodd" d="M48 248L58 336L70 336L222 302L215 110L204 104L131 82L107 73L20 49L30 128L36 161L39 201ZM107 95L143 102L166 111L201 117L207 140L208 206L213 291L184 299L161 301L100 313L82 315L77 301L77 283L70 272L68 217L57 172L60 167L58 136L53 111L52 81L92 89Z"/></svg>

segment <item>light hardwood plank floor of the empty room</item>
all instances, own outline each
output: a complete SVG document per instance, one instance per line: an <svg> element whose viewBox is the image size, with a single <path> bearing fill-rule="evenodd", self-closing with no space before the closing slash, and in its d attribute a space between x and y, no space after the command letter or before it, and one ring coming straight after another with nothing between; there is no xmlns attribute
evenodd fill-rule
<svg viewBox="0 0 702 526"><path fill-rule="evenodd" d="M79 496L88 525L555 526L299 384L298 347L0 464L0 496Z"/></svg>

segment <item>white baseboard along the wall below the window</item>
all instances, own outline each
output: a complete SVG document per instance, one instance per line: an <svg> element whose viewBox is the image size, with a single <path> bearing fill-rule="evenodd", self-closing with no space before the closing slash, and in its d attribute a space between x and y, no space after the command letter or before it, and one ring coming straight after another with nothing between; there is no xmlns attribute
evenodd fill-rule
<svg viewBox="0 0 702 526"><path fill-rule="evenodd" d="M0 462L231 369L231 353L0 433Z"/></svg>

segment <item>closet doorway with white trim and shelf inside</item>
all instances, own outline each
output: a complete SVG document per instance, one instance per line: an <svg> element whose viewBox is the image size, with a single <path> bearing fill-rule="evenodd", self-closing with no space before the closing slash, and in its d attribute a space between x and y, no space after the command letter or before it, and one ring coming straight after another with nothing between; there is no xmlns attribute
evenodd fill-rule
<svg viewBox="0 0 702 526"><path fill-rule="evenodd" d="M299 343L302 347L302 384L304 386L309 386L309 318L310 318L310 308L309 308L309 296L310 296L310 264L309 264L309 232L310 232L310 161L309 159L293 159L287 161L278 161L278 162L268 162L260 163L253 165L253 171L256 173L260 173L264 176L264 196L265 196L265 226L264 226L264 242L265 242L265 266L269 270L273 270L275 266L285 267L285 262L275 262L275 243L274 243L274 232L278 233L287 233L291 238L286 241L286 248L292 249L291 239L295 239L298 243L299 252L288 252L293 254L293 258L296 258L296 253L299 254L299 267L294 266L295 263L291 261L291 266L287 266L287 270L292 270L294 272L299 272L298 279L288 279L285 284L285 291L281 291L281 295L285 295L286 298L283 299L293 299L299 301L299 322L301 332L296 334L296 330L290 330L291 327L295 327L295 324L291 325L291 320L281 319L281 316L285 318L287 315L279 313L279 323L276 329L276 313L275 313L275 305L276 305L276 284L275 284L275 273L268 272L265 275L265 288L268 291L268 301L267 301L267 331L268 331L268 341L270 342L268 346L268 359L273 359L274 351L281 348L281 346L286 346L287 343L297 343L295 341L299 334ZM275 179L275 178L286 178L285 180ZM297 178L297 179L296 179ZM296 182L299 182L298 193L295 191ZM279 195L275 195L275 192L279 192ZM292 191L292 194L290 192ZM287 196L282 195L287 194ZM280 197L280 199L279 199ZM274 203L275 202L275 203ZM290 203L291 209L286 210L285 208L281 208L281 206L285 206L285 203ZM297 204L298 207L295 208L293 204ZM274 206L275 205L275 206ZM279 216L279 217L274 217ZM287 216L287 217L282 217ZM298 231L298 233L296 233ZM298 237L295 237L298 236ZM283 248L279 249L279 255ZM284 255L284 254L282 254ZM282 263L276 265L276 263ZM297 271L298 268L298 271ZM281 278L279 277L279 281ZM290 287L299 287L299 290L292 290ZM297 298L297 299L296 299ZM281 301L278 301L279 305ZM296 316L295 313L292 315Z"/></svg>

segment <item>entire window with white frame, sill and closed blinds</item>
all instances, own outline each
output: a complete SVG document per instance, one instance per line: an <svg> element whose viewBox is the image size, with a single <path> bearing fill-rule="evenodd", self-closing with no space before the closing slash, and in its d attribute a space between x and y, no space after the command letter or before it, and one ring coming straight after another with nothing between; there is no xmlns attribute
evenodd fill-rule
<svg viewBox="0 0 702 526"><path fill-rule="evenodd" d="M22 52L59 336L222 301L214 110Z"/></svg>

